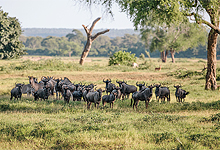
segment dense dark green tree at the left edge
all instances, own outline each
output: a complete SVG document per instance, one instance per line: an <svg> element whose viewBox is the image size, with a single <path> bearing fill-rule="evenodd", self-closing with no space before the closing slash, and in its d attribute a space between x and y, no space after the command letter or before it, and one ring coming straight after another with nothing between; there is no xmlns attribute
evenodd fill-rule
<svg viewBox="0 0 220 150"><path fill-rule="evenodd" d="M19 41L21 26L15 17L9 17L0 7L0 58L18 58L25 53Z"/></svg>

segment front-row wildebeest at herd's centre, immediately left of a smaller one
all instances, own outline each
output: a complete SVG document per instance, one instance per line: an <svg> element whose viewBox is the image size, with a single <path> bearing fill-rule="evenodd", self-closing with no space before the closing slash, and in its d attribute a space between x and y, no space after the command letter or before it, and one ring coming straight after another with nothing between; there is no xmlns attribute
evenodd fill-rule
<svg viewBox="0 0 220 150"><path fill-rule="evenodd" d="M99 104L101 102L102 99L102 89L98 89L95 92L89 92L86 95L86 99L87 99L87 108L90 109L90 105L91 103L95 104L95 108L96 108L96 104L98 105L97 108L99 107Z"/></svg>

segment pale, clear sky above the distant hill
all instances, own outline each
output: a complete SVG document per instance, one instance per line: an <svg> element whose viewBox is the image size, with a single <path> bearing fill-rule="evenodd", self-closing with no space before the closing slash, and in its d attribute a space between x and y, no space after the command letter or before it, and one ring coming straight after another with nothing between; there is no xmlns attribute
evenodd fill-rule
<svg viewBox="0 0 220 150"><path fill-rule="evenodd" d="M16 17L22 28L71 28L91 26L101 17L95 29L134 29L126 13L114 5L114 18L106 15L101 6L83 6L77 0L0 0L1 9Z"/></svg>

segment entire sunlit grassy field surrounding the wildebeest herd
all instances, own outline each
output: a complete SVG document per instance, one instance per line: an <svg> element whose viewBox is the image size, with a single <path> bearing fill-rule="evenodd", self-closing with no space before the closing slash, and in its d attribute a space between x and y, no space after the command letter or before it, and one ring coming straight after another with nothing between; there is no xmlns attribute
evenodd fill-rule
<svg viewBox="0 0 220 150"><path fill-rule="evenodd" d="M0 63L0 149L220 149L219 90L206 91L206 60L138 60L139 68L108 66L107 58L23 57ZM161 65L161 71L155 67ZM217 62L217 82L220 75ZM153 94L148 109L140 102L138 110L130 100L86 109L85 102L65 104L49 97L34 101L23 96L10 101L10 90L17 82L28 83L28 76L68 77L75 83L95 83L105 87L103 78L113 83L146 82L169 86L171 103L158 103ZM176 102L174 84L189 91L186 101ZM153 90L154 91L154 90ZM103 93L105 94L105 93Z"/></svg>

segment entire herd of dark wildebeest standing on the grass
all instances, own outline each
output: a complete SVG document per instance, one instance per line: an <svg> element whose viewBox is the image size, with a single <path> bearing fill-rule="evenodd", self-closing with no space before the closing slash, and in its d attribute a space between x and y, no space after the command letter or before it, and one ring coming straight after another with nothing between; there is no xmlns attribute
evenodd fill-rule
<svg viewBox="0 0 220 150"><path fill-rule="evenodd" d="M136 82L135 85L129 85L126 81L118 81L115 85L112 83L111 79L103 79L105 83L105 89L96 89L96 85L91 83L88 85L83 85L82 83L72 83L67 77L55 79L53 77L41 77L38 82L36 77L28 76L29 84L15 83L15 87L11 90L11 98L20 98L22 94L33 95L34 100L38 99L48 99L49 96L56 93L56 99L64 99L66 103L69 103L70 99L73 101L83 101L87 102L87 108L90 108L91 103L94 103L95 107L99 107L102 102L103 106L106 103L110 103L110 108L113 108L113 104L116 99L124 100L125 97L129 98L132 94L131 106L133 105L137 109L139 101L145 101L146 109L153 95L153 88L155 89L156 100L170 102L170 90L169 87L161 86L161 84L145 85L145 83ZM137 87L139 90L137 90ZM175 96L177 102L183 102L186 95L189 92L181 89L181 85L174 85L176 88ZM106 92L107 95L102 96L102 93Z"/></svg>

